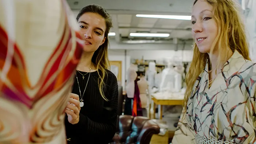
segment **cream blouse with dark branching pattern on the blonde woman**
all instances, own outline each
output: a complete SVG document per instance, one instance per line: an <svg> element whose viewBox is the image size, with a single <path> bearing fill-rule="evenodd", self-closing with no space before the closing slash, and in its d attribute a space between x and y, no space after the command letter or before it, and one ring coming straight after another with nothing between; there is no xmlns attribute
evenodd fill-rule
<svg viewBox="0 0 256 144"><path fill-rule="evenodd" d="M184 121L181 114L172 144L255 143L256 63L235 51L210 88L206 63L188 99Z"/></svg>

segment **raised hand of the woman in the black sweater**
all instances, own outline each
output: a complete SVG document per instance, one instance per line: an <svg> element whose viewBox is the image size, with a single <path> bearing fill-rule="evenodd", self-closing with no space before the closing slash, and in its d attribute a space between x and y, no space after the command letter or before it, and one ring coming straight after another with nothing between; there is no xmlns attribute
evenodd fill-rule
<svg viewBox="0 0 256 144"><path fill-rule="evenodd" d="M80 113L80 101L79 96L76 94L69 94L69 102L66 107L65 113L68 115L68 122L71 124L77 124L79 122L79 113Z"/></svg>

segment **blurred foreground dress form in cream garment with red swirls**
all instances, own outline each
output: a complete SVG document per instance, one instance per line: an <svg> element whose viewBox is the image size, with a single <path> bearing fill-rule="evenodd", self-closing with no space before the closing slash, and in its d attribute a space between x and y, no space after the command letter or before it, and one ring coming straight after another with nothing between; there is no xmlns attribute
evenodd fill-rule
<svg viewBox="0 0 256 144"><path fill-rule="evenodd" d="M82 54L72 11L63 0L0 0L0 14L0 143L65 144Z"/></svg>

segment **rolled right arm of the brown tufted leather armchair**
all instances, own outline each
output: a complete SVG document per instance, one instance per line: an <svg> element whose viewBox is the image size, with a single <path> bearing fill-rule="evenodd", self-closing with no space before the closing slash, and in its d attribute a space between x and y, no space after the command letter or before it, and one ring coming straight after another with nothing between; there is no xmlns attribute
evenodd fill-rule
<svg viewBox="0 0 256 144"><path fill-rule="evenodd" d="M137 138L137 144L149 144L153 134L158 134L160 127L152 120L148 120L143 125L142 130Z"/></svg>

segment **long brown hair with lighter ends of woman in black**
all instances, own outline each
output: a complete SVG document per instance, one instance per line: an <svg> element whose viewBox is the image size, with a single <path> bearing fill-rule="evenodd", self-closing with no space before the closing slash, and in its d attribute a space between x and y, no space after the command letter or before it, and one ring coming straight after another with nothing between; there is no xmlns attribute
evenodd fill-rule
<svg viewBox="0 0 256 144"><path fill-rule="evenodd" d="M106 39L105 39L105 42L101 46L99 46L99 48L94 52L93 58L91 59L91 61L93 62L94 65L96 65L96 69L99 75L99 79L98 79L99 92L105 101L109 101L104 95L104 88L105 88L104 79L108 76L108 72L106 70L110 68L110 62L108 59L108 45L109 45L108 33L110 31L110 28L112 27L112 19L103 7L96 4L91 4L91 5L87 5L86 7L83 7L82 10L79 11L76 17L76 20L78 20L80 16L82 16L86 12L99 14L105 19L106 31L104 33L104 37ZM101 73L98 70L101 71Z"/></svg>

